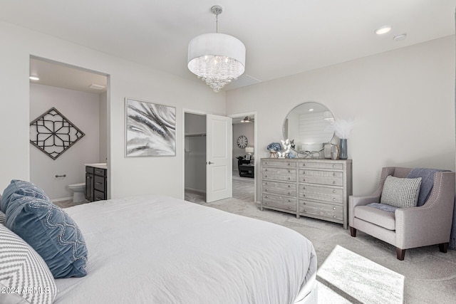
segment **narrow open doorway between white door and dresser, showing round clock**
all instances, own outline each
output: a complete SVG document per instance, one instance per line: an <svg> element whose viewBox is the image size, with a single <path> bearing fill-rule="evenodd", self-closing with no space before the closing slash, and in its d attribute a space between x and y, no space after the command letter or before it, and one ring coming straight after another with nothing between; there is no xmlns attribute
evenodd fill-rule
<svg viewBox="0 0 456 304"><path fill-rule="evenodd" d="M233 119L233 197L256 201L257 162L255 157L256 112L232 115Z"/></svg>

